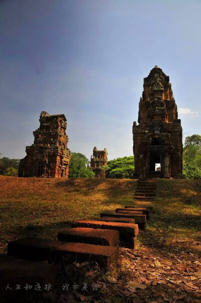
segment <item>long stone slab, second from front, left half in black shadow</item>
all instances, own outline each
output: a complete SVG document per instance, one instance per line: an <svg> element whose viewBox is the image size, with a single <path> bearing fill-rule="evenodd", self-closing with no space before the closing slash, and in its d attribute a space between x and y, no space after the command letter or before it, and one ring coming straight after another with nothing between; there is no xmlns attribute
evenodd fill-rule
<svg viewBox="0 0 201 303"><path fill-rule="evenodd" d="M85 243L64 243L40 238L24 238L9 242L8 255L28 260L65 262L95 261L101 267L109 268L110 263L117 263L119 250L117 247L92 245Z"/></svg>

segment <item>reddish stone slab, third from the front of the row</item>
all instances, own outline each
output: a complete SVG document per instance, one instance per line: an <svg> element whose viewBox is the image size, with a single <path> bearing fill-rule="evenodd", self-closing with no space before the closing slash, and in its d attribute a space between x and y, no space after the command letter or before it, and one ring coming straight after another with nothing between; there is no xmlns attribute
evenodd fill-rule
<svg viewBox="0 0 201 303"><path fill-rule="evenodd" d="M119 232L90 228L65 229L58 233L58 241L117 246L119 245Z"/></svg>

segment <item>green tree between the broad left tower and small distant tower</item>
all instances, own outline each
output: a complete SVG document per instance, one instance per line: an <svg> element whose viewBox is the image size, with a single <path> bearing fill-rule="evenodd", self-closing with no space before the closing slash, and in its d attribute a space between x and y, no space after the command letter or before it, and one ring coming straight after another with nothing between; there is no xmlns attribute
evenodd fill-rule
<svg viewBox="0 0 201 303"><path fill-rule="evenodd" d="M69 178L92 178L94 173L87 167L88 159L80 153L72 153L69 165Z"/></svg>

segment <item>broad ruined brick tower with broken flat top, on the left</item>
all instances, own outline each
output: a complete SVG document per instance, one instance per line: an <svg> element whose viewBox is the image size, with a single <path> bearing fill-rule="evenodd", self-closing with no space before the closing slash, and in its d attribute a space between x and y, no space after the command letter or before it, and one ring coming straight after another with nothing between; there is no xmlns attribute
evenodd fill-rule
<svg viewBox="0 0 201 303"><path fill-rule="evenodd" d="M19 177L68 177L71 152L67 148L64 114L41 112L40 127L34 134L34 144L26 146L27 156L20 161Z"/></svg>

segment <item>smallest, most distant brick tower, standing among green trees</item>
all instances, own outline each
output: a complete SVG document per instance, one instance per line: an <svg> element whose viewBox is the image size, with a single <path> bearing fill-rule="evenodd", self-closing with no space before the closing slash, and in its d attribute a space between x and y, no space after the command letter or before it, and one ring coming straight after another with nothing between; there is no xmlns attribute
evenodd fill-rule
<svg viewBox="0 0 201 303"><path fill-rule="evenodd" d="M108 150L97 150L93 148L93 157L91 156L90 167L96 178L106 178L106 173L100 169L103 165L108 164Z"/></svg>

